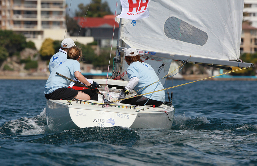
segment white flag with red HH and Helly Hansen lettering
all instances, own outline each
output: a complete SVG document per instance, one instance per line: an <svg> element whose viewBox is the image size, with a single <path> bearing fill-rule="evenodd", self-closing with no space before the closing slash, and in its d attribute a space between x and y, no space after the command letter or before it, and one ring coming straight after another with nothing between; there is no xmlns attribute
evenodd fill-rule
<svg viewBox="0 0 257 166"><path fill-rule="evenodd" d="M138 20L149 17L150 0L121 0L121 14L118 18Z"/></svg>

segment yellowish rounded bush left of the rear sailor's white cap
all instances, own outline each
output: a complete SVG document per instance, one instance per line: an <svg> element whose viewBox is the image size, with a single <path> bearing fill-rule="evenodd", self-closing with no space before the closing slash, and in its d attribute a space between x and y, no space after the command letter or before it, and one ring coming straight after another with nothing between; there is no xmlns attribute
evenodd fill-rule
<svg viewBox="0 0 257 166"><path fill-rule="evenodd" d="M50 59L53 54L55 54L54 44L53 40L50 38L45 39L45 41L42 43L42 46L40 48L40 55L43 59Z"/></svg>

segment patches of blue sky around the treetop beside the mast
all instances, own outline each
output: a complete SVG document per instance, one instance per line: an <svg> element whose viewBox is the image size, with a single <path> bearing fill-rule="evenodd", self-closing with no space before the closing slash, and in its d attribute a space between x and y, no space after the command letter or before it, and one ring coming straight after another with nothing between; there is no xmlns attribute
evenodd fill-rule
<svg viewBox="0 0 257 166"><path fill-rule="evenodd" d="M113 12L113 14L115 14L117 0L102 0L102 3L105 2L105 1L108 3L108 5L109 5L111 11ZM66 4L68 5L68 7L67 7L68 10L69 10L70 4L71 4L71 10L70 10L70 15L71 16L74 16L75 10L76 9L78 10L78 5L80 3L83 3L84 5L87 5L87 4L90 3L90 0L66 0ZM120 6L121 6L121 2L118 0L117 14L121 13Z"/></svg>

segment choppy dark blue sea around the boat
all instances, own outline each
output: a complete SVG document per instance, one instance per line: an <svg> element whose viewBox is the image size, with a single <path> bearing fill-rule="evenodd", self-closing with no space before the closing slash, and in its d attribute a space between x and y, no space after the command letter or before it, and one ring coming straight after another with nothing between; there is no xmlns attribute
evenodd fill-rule
<svg viewBox="0 0 257 166"><path fill-rule="evenodd" d="M45 82L0 81L1 166L257 165L256 81L206 80L173 88L171 129L60 133L47 126ZM167 86L187 82L167 80Z"/></svg>

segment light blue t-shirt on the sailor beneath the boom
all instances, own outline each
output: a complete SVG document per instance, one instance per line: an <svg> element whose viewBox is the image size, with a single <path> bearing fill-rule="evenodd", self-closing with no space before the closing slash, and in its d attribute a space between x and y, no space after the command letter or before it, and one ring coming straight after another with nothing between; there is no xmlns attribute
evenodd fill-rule
<svg viewBox="0 0 257 166"><path fill-rule="evenodd" d="M152 68L152 66L150 66L147 63L144 63L144 62L141 63L138 61L132 62L127 68L127 73L128 73L129 79L132 77L137 77L139 79L139 82L134 87L134 90L139 90L141 88L143 88L143 89L137 91L137 94L145 94L145 93L163 89L161 82L158 81L159 78L156 75L154 69ZM156 82L156 81L158 81L158 82ZM156 82L156 83L154 83L154 82ZM152 84L152 83L154 83L154 84ZM152 84L152 85L150 85L150 84ZM148 85L150 85L150 86L148 86ZM146 87L146 86L148 86L148 87ZM156 86L157 86L157 88L156 88ZM146 87L146 88L144 88L144 87ZM157 100L157 101L163 102L164 98L165 98L165 93L163 90L160 92L154 92L152 94L146 94L143 96L150 98L152 100Z"/></svg>

